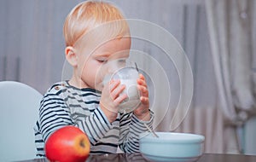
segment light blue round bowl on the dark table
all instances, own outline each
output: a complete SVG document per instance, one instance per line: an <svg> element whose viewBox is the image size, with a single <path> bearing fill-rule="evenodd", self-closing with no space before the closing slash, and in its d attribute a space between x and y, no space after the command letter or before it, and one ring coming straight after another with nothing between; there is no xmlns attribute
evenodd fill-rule
<svg viewBox="0 0 256 162"><path fill-rule="evenodd" d="M140 152L153 161L195 161L204 150L205 137L189 133L156 132L140 136Z"/></svg>

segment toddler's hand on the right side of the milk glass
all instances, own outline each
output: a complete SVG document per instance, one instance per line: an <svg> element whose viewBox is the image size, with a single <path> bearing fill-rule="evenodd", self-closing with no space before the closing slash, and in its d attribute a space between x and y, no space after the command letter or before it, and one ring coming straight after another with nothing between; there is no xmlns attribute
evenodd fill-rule
<svg viewBox="0 0 256 162"><path fill-rule="evenodd" d="M134 110L134 114L138 119L141 120L149 120L150 113L149 113L149 100L148 100L148 86L143 74L140 74L139 78L137 79L137 88L141 93L141 104L137 109Z"/></svg>

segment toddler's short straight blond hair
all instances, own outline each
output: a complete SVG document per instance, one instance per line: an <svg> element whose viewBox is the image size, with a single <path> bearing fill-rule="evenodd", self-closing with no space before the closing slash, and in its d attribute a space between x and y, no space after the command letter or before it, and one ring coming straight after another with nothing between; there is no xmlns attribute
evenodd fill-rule
<svg viewBox="0 0 256 162"><path fill-rule="evenodd" d="M63 26L66 46L73 46L97 26L117 21L119 22L107 27L112 32L111 37L120 37L127 33L129 35L129 26L123 14L113 4L96 1L79 3L67 15Z"/></svg>

